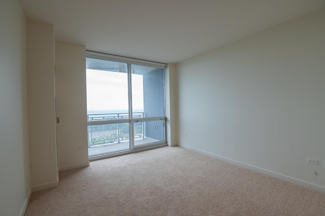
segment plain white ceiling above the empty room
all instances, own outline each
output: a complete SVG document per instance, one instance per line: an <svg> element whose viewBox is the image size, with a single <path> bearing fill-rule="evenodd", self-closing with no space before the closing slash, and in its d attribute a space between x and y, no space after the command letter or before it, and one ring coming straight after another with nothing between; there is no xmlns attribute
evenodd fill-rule
<svg viewBox="0 0 325 216"><path fill-rule="evenodd" d="M20 0L55 40L163 63L191 58L325 7L324 0Z"/></svg>

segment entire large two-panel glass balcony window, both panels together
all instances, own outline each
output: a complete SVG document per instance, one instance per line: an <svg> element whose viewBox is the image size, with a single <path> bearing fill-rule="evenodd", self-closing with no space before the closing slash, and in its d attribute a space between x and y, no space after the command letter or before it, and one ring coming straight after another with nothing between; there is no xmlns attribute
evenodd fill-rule
<svg viewBox="0 0 325 216"><path fill-rule="evenodd" d="M88 155L166 142L165 69L86 58Z"/></svg>

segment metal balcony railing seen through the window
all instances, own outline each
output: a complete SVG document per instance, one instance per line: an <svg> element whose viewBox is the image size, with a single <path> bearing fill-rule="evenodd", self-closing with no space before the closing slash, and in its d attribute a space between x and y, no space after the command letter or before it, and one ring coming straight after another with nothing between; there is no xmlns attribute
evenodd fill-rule
<svg viewBox="0 0 325 216"><path fill-rule="evenodd" d="M133 119L144 118L143 112L133 113ZM88 148L129 140L128 123L109 124L111 120L128 119L128 113L91 114L88 122L107 121L108 124L88 126ZM134 138L144 138L144 123L134 123Z"/></svg>

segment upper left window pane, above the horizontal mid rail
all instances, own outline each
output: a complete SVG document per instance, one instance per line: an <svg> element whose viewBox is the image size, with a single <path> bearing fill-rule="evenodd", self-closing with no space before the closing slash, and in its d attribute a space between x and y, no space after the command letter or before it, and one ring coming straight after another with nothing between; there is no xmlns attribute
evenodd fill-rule
<svg viewBox="0 0 325 216"><path fill-rule="evenodd" d="M127 64L86 58L87 114L128 114Z"/></svg>

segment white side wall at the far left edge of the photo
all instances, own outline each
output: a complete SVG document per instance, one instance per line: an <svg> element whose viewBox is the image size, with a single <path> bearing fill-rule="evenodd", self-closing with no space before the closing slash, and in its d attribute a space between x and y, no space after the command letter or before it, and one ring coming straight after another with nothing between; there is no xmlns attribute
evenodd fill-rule
<svg viewBox="0 0 325 216"><path fill-rule="evenodd" d="M31 193L26 18L18 0L0 5L0 215L16 216Z"/></svg>

